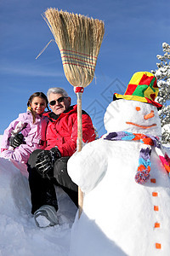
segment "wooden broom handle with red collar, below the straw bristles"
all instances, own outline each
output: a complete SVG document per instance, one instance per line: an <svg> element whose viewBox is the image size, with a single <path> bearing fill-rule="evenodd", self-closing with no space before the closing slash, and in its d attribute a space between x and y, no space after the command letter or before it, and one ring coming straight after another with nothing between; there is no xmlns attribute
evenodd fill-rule
<svg viewBox="0 0 170 256"><path fill-rule="evenodd" d="M75 87L75 92L77 94L77 151L82 150L82 92L83 87ZM80 187L78 187L78 218L82 214L83 205L83 193Z"/></svg>

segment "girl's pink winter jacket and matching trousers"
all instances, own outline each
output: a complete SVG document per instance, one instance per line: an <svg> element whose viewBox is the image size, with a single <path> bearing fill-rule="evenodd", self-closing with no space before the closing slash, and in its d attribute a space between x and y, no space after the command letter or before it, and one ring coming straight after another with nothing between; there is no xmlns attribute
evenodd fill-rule
<svg viewBox="0 0 170 256"><path fill-rule="evenodd" d="M27 163L32 151L38 148L45 148L45 133L48 125L48 118L37 114L36 121L33 124L31 112L20 113L18 119L15 119L8 125L3 133L1 148L3 152L1 157ZM24 144L18 148L9 146L9 138L16 135L19 131L24 136ZM7 150L6 150L7 149Z"/></svg>

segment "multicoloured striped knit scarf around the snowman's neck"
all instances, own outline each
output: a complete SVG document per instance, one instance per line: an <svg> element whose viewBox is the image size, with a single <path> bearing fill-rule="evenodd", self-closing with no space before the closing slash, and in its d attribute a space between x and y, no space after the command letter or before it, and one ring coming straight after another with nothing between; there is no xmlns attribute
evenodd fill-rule
<svg viewBox="0 0 170 256"><path fill-rule="evenodd" d="M118 131L109 133L104 139L110 141L139 141L140 143L143 143L139 152L139 166L134 177L136 183L144 184L150 177L151 146L155 147L156 154L158 154L161 163L167 170L168 174L170 173L170 158L167 153L163 151L161 142L157 137L141 133Z"/></svg>

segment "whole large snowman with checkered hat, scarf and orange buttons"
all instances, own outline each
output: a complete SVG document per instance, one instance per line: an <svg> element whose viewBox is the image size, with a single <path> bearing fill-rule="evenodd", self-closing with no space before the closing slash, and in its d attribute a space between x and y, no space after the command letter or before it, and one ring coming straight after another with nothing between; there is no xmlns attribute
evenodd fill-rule
<svg viewBox="0 0 170 256"><path fill-rule="evenodd" d="M69 175L84 193L71 256L170 255L169 158L157 94L152 73L134 73L106 109L105 136L71 156Z"/></svg>

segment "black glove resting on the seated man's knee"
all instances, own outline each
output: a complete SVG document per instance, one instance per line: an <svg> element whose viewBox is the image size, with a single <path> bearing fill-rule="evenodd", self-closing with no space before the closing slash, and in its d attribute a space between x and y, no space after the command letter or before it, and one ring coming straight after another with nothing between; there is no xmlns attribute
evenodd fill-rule
<svg viewBox="0 0 170 256"><path fill-rule="evenodd" d="M56 160L61 157L59 149L42 150L37 154L36 169L42 177L53 177L53 167Z"/></svg>

